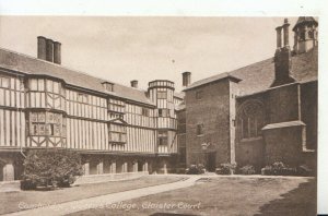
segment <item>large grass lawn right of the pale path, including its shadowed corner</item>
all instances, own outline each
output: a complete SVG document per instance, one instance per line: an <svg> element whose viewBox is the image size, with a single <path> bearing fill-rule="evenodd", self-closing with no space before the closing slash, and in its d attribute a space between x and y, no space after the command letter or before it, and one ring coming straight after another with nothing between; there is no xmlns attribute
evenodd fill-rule
<svg viewBox="0 0 328 216"><path fill-rule="evenodd" d="M316 181L306 178L215 178L194 187L149 195L72 215L316 215ZM165 206L166 205L166 206Z"/></svg>

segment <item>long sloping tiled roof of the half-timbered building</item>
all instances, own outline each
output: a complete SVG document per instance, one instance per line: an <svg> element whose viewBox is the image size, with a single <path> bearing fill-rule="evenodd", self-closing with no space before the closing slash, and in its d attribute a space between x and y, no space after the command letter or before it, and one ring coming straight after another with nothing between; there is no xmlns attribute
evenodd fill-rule
<svg viewBox="0 0 328 216"><path fill-rule="evenodd" d="M103 79L91 76L83 72L73 71L67 69L60 64L55 64L48 61L13 52L0 48L0 68L20 71L27 74L44 74L62 79L68 84L105 93L108 95L115 95L126 99L153 105L147 97L145 92L120 84L114 85L114 92L107 92L104 89L102 83L110 82ZM113 83L113 82L110 82Z"/></svg>

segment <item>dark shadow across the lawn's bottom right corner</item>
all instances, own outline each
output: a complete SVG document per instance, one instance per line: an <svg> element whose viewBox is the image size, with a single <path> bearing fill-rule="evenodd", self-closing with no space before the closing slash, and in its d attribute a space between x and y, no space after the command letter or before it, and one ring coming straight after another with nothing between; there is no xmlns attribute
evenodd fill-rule
<svg viewBox="0 0 328 216"><path fill-rule="evenodd" d="M317 215L317 185L315 180L301 183L298 188L282 194L260 207L256 216L313 216Z"/></svg>

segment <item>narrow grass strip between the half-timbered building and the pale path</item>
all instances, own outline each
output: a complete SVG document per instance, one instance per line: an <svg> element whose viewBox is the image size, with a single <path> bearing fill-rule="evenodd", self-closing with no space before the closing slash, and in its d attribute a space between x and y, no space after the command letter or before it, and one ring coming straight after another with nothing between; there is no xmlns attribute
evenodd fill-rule
<svg viewBox="0 0 328 216"><path fill-rule="evenodd" d="M0 193L0 215L22 211L20 206L52 205L68 201L128 191L150 185L171 183L184 179L171 176L147 176L133 180L82 184L54 191L20 191ZM26 205L25 205L26 204Z"/></svg>

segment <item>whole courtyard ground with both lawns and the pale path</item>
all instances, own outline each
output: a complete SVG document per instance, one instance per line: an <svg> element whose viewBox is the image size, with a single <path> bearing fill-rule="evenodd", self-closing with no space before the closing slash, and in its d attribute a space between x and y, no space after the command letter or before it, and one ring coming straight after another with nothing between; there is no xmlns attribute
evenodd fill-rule
<svg viewBox="0 0 328 216"><path fill-rule="evenodd" d="M187 184L191 181L192 183L188 187ZM168 189L184 183L186 187ZM161 187L167 190L156 192L156 189ZM139 191L139 194L136 191ZM144 191L150 192L151 195L147 195ZM124 196L124 199L114 202L115 200L110 200L113 196ZM305 177L157 175L47 192L13 192L0 194L0 199L1 214L22 211L20 203L25 203L26 207L28 205L31 207L32 204L38 203L83 205L83 202L96 201L99 203L98 206L91 209L71 211L70 215L305 216L316 215L316 180ZM19 213L31 215L36 212ZM56 213L51 212L51 215Z"/></svg>

